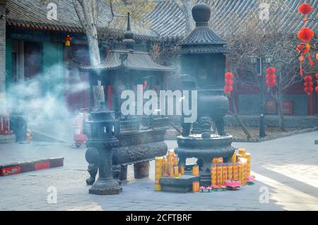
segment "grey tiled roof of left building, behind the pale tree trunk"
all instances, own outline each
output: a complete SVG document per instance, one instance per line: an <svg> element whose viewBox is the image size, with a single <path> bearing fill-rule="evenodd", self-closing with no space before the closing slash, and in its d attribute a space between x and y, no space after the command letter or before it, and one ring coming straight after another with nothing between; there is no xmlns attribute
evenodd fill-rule
<svg viewBox="0 0 318 225"><path fill-rule="evenodd" d="M47 4L57 4L57 20L49 20L47 18ZM102 0L97 1L98 4L105 4ZM81 23L78 20L76 11L73 8L71 0L50 0L42 2L40 0L9 0L7 4L8 16L7 24L11 27L29 28L34 30L54 30L61 32L83 32ZM99 8L98 29L102 32L110 32L109 21L110 11L104 6ZM113 29L114 34L122 35L123 30ZM139 39L153 39L157 37L151 29L143 28L140 35L136 35Z"/></svg>

